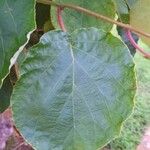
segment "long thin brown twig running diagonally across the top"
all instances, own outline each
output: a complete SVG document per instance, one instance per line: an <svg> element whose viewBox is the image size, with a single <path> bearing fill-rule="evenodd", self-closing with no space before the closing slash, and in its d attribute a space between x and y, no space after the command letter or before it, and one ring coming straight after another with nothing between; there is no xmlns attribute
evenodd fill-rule
<svg viewBox="0 0 150 150"><path fill-rule="evenodd" d="M69 9L73 9L73 10L76 10L78 12L82 12L82 13L85 13L89 16L93 16L97 19L101 19L101 20L104 20L106 22L109 22L109 23L112 23L112 24L116 24L117 26L120 26L120 27L123 27L125 29L128 29L138 35L143 35L147 38L150 38L150 34L149 33L145 33L143 31L140 31L132 26L130 26L129 24L124 24L122 22L118 22L118 21L115 21L109 17L106 17L106 16L103 16L101 14L98 14L98 13L95 13L91 10L88 10L88 9L85 9L85 8L82 8L80 6L76 6L76 5L72 5L72 4L61 4L61 3L57 3L57 2L53 2L53 1L49 1L49 0L36 0L38 3L43 3L43 4L47 4L47 5L53 5L55 7L62 7L62 8L69 8Z"/></svg>

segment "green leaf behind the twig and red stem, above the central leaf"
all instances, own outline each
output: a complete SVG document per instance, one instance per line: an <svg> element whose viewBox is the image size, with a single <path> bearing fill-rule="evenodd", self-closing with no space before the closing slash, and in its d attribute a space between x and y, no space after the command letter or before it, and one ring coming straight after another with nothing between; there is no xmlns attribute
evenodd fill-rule
<svg viewBox="0 0 150 150"><path fill-rule="evenodd" d="M115 6L112 0L55 0L60 3L69 3L90 9L94 12L101 13L110 18L115 17ZM55 26L57 25L56 9L53 9L53 18ZM77 12L71 9L63 11L63 20L68 31L74 31L81 27L98 27L105 31L110 31L112 24L106 23L102 20L95 19L94 17L85 15L84 13Z"/></svg>

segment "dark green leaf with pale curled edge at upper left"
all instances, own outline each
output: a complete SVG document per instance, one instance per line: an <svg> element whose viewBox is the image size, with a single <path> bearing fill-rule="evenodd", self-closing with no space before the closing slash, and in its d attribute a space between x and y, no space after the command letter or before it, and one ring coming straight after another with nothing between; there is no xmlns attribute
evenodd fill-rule
<svg viewBox="0 0 150 150"><path fill-rule="evenodd" d="M10 58L34 28L34 0L0 0L0 85Z"/></svg>

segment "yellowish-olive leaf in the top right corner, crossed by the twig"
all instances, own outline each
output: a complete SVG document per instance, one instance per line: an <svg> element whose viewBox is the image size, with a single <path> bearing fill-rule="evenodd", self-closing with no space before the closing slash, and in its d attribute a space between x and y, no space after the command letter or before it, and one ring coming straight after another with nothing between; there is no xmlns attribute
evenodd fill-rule
<svg viewBox="0 0 150 150"><path fill-rule="evenodd" d="M150 33L150 0L138 0L130 12L130 24L146 33ZM150 39L140 36L150 46Z"/></svg>

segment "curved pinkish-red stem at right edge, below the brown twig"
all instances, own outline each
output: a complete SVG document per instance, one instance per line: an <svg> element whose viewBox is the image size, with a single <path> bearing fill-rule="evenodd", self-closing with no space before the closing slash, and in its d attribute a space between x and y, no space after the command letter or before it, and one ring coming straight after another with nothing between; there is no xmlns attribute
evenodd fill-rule
<svg viewBox="0 0 150 150"><path fill-rule="evenodd" d="M143 48L139 47L139 45L134 41L129 29L126 30L126 35L127 38L130 40L131 44L136 48L136 50L142 53L145 58L150 59L150 53L145 52Z"/></svg>

